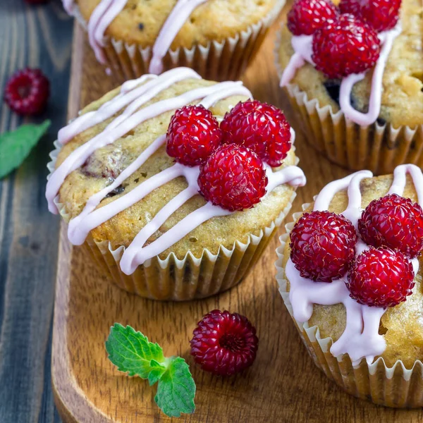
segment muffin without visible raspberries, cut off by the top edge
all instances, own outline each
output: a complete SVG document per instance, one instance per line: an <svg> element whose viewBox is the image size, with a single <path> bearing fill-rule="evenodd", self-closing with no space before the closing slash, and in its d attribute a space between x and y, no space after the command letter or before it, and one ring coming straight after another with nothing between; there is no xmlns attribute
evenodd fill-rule
<svg viewBox="0 0 423 423"><path fill-rule="evenodd" d="M123 80L188 66L235 80L285 0L63 0L87 28L97 60Z"/></svg>

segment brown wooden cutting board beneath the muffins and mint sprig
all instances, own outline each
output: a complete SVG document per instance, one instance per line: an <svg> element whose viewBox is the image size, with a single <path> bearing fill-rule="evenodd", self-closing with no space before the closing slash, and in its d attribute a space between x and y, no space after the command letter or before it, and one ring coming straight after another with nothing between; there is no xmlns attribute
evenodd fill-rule
<svg viewBox="0 0 423 423"><path fill-rule="evenodd" d="M277 27L278 23L243 80L255 98L285 109L290 118L274 68ZM95 61L78 25L74 37L70 118L119 84ZM330 180L348 173L307 147L300 128L296 129L300 166L308 184L298 191L293 212ZM252 274L226 293L201 301L154 302L116 288L83 250L69 245L62 224L52 379L63 421L171 421L154 403L155 388L117 372L107 360L104 341L110 326L118 321L162 345L165 355L181 355L190 364L197 384L197 410L181 417L181 422L423 422L422 410L389 410L348 396L314 366L278 293L277 245L275 238ZM253 367L228 379L202 372L189 355L188 341L196 322L215 308L245 314L259 336Z"/></svg>

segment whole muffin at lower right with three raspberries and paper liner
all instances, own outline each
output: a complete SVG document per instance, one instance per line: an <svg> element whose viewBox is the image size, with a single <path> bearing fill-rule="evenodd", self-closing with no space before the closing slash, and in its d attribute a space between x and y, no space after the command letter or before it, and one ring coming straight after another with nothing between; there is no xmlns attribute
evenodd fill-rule
<svg viewBox="0 0 423 423"><path fill-rule="evenodd" d="M278 283L314 362L348 393L422 407L423 174L359 171L294 214Z"/></svg>

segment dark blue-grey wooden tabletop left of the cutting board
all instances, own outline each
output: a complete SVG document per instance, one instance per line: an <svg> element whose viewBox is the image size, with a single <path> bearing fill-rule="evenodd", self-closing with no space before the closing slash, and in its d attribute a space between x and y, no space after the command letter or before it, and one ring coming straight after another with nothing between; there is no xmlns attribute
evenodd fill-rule
<svg viewBox="0 0 423 423"><path fill-rule="evenodd" d="M44 198L46 164L66 122L73 23L60 1L0 0L0 133L50 118L49 135L0 181L0 422L59 422L51 391L51 330L59 219ZM8 77L25 66L51 81L47 111L23 120L3 105Z"/></svg>

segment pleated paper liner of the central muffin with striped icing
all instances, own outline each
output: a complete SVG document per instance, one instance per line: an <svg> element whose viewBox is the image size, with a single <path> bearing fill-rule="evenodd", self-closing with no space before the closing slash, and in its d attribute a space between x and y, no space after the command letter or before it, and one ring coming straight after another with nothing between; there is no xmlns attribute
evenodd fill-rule
<svg viewBox="0 0 423 423"><path fill-rule="evenodd" d="M50 154L52 161L47 165L50 173L54 171L61 147L58 142L54 146L56 149ZM258 235L249 235L245 242L235 241L231 249L221 245L216 254L204 249L201 257L195 257L188 251L183 259L178 259L173 253L166 259L153 257L138 266L130 276L124 274L119 266L125 247L114 249L109 240L97 242L91 235L84 247L91 252L101 269L107 271L111 281L130 293L153 300L206 298L228 290L247 276L289 213L295 196L293 192L285 209L269 226L262 228ZM58 197L55 204L68 223L71 217Z"/></svg>

